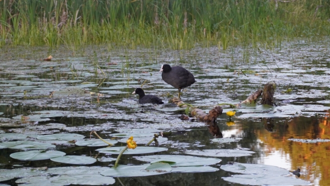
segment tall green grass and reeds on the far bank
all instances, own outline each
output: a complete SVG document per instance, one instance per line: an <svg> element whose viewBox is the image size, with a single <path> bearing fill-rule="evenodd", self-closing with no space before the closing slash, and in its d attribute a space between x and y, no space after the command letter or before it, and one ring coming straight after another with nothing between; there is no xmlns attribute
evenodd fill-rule
<svg viewBox="0 0 330 186"><path fill-rule="evenodd" d="M280 45L330 33L329 0L0 0L0 46Z"/></svg>

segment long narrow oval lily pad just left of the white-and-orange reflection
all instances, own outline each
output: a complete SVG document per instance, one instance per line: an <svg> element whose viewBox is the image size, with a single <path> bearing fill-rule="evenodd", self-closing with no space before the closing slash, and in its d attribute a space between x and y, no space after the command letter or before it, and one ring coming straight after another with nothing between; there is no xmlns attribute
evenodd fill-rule
<svg viewBox="0 0 330 186"><path fill-rule="evenodd" d="M251 155L254 153L249 150L239 150L239 149L204 149L204 150L186 150L185 153L191 155L204 155L213 157L239 157Z"/></svg>

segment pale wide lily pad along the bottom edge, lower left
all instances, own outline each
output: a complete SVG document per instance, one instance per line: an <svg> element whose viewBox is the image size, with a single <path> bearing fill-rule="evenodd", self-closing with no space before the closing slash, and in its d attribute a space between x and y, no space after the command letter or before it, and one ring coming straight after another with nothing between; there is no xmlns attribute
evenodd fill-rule
<svg viewBox="0 0 330 186"><path fill-rule="evenodd" d="M105 185L113 184L115 180L112 177L99 174L80 174L80 175L57 175L57 176L32 176L16 180L16 183L27 183L27 185Z"/></svg>

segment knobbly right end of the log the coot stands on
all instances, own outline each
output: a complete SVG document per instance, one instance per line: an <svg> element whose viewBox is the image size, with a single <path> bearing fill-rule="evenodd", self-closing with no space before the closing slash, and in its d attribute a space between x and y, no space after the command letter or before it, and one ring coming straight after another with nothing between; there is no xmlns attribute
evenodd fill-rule
<svg viewBox="0 0 330 186"><path fill-rule="evenodd" d="M196 117L199 121L215 121L217 116L221 115L222 107L215 106L213 109L209 110L208 113L203 112L199 108L194 108L191 111L191 115Z"/></svg>

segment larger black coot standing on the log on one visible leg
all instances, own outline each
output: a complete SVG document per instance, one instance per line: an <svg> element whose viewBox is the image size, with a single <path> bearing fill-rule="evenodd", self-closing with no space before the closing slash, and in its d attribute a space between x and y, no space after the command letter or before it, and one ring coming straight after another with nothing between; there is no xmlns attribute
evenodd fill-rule
<svg viewBox="0 0 330 186"><path fill-rule="evenodd" d="M181 66L170 67L169 64L163 64L159 72L161 72L162 80L168 84L178 88L180 98L180 92L182 88L190 86L192 83L196 82L192 73Z"/></svg>

